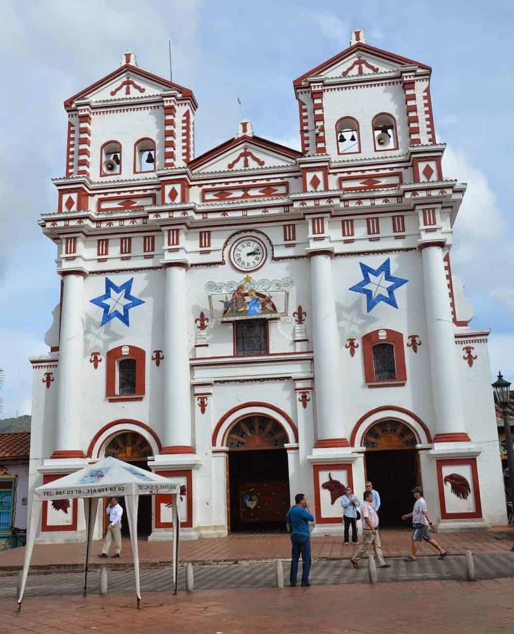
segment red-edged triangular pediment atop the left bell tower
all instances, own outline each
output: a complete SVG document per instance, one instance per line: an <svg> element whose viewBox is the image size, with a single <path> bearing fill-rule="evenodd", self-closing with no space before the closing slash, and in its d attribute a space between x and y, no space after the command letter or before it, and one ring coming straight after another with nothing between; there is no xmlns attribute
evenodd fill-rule
<svg viewBox="0 0 514 634"><path fill-rule="evenodd" d="M142 68L124 64L91 86L74 94L64 102L64 106L71 108L74 101L79 99L91 100L94 103L95 101L152 96L170 90L176 90L183 97L192 97L196 103L190 89L153 75Z"/></svg>

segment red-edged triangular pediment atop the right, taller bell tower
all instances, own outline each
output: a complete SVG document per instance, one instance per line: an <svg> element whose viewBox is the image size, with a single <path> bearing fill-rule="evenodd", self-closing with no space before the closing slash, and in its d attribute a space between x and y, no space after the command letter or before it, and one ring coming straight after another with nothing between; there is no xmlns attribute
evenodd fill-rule
<svg viewBox="0 0 514 634"><path fill-rule="evenodd" d="M293 84L301 86L302 83L311 78L319 77L327 79L336 77L359 77L362 75L373 75L385 72L395 72L398 68L406 66L417 66L430 70L430 67L418 61L383 51L382 49L358 42L345 49L330 60L324 61L316 68L300 75Z"/></svg>

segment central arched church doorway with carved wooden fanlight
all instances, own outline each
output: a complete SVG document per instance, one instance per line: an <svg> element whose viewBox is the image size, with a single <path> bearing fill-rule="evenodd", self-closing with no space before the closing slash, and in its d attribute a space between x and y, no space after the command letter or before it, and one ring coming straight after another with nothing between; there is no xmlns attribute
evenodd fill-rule
<svg viewBox="0 0 514 634"><path fill-rule="evenodd" d="M273 418L249 415L226 436L230 531L285 529L289 470L285 429Z"/></svg>

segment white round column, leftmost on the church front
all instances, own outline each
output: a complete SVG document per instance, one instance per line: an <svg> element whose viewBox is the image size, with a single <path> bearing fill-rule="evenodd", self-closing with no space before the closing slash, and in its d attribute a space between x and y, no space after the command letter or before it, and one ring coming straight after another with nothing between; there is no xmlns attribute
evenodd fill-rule
<svg viewBox="0 0 514 634"><path fill-rule="evenodd" d="M82 364L84 322L82 321L83 273L63 273L61 333L57 378L57 421L53 458L83 458L80 448L82 414Z"/></svg>

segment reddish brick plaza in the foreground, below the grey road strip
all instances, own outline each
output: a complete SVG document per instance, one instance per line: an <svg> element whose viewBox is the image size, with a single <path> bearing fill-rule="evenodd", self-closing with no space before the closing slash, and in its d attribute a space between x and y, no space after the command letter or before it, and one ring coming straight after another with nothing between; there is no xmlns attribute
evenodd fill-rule
<svg viewBox="0 0 514 634"><path fill-rule="evenodd" d="M376 586L311 586L284 590L154 592L136 610L133 594L106 597L28 597L15 615L0 600L2 634L500 634L513 631L514 581L424 581ZM344 616L343 616L344 613Z"/></svg>

